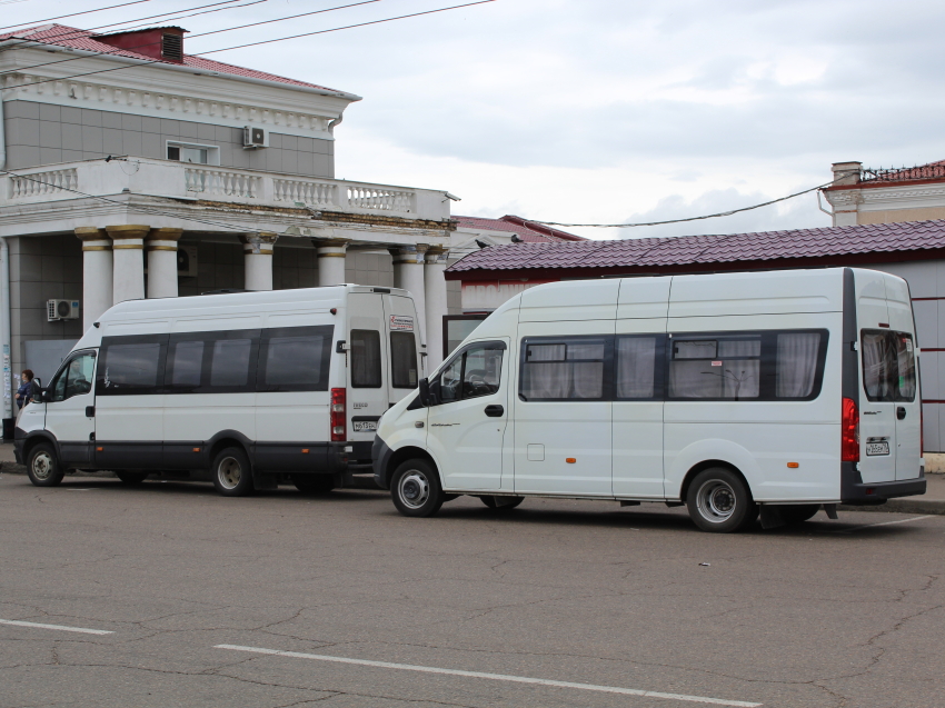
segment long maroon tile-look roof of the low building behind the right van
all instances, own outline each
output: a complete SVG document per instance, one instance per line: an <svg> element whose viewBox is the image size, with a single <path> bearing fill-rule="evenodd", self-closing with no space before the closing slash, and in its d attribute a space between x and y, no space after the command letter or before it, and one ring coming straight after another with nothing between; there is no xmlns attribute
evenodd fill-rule
<svg viewBox="0 0 945 708"><path fill-rule="evenodd" d="M579 243L513 243L469 253L447 271L485 275L531 269L637 269L694 267L709 263L803 261L825 257L869 255L874 262L899 260L893 255L945 249L945 220L906 221L726 236L581 241ZM452 279L458 279L455 276Z"/></svg>

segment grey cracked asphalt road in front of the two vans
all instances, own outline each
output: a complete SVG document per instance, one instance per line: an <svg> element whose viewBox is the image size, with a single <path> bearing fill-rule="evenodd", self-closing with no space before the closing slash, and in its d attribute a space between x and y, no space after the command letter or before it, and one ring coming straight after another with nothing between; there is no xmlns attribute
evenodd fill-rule
<svg viewBox="0 0 945 708"><path fill-rule="evenodd" d="M0 707L934 707L944 572L942 516L714 536L655 505L2 475Z"/></svg>

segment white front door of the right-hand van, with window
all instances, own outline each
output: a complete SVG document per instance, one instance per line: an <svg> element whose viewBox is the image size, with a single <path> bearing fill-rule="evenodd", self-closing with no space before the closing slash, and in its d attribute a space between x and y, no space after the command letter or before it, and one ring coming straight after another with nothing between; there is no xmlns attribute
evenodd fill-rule
<svg viewBox="0 0 945 708"><path fill-rule="evenodd" d="M499 490L508 425L507 338L474 342L454 355L431 382L427 447L446 489Z"/></svg>

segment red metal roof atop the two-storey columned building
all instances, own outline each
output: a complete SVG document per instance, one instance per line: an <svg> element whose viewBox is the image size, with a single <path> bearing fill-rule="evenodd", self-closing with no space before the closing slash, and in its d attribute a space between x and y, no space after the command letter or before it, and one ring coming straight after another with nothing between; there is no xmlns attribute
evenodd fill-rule
<svg viewBox="0 0 945 708"><path fill-rule="evenodd" d="M150 28L155 29L155 28ZM145 31L145 30L137 30ZM132 59L141 59L143 61L151 61L155 63L163 63L169 66L180 66L180 62L177 61L163 61L163 60L155 60L151 57L146 54L141 54L136 51L131 51L129 49L118 49L112 47L111 44L106 44L105 42L98 41L93 37L93 32L89 30L82 30L74 27L67 27L64 24L43 24L40 27L28 28L24 30L17 30L16 32L6 32L0 34L0 41L7 39L23 39L31 42L41 42L43 44L54 44L58 47L71 47L72 49L82 49L86 51L94 51L101 52L105 54L111 54L115 57L130 57ZM116 32L113 36L117 36ZM331 91L335 93L346 93L345 91L338 91L336 89L329 89L328 87L318 86L317 83L308 83L306 81L298 81L296 79L289 79L286 77L280 77L275 73L268 73L266 71L257 71L256 69L247 69L245 67L237 67L235 64L223 63L221 61L215 61L212 59L205 59L203 57L193 57L190 54L183 54L183 66L195 67L198 69L203 69L206 71L219 71L220 73L228 73L236 77L243 77L247 79L262 79L265 81L275 81L277 83L287 83L289 86L298 86L305 87L309 89L321 89L322 91Z"/></svg>

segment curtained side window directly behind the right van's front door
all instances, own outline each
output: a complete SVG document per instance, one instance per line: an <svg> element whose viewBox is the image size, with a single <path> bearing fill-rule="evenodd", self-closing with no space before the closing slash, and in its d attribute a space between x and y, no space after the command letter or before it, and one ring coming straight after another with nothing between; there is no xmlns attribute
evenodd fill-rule
<svg viewBox="0 0 945 708"><path fill-rule="evenodd" d="M600 400L610 340L604 337L523 342L523 400Z"/></svg>

